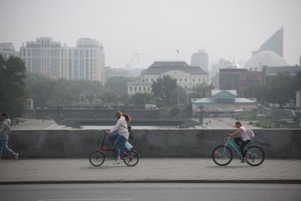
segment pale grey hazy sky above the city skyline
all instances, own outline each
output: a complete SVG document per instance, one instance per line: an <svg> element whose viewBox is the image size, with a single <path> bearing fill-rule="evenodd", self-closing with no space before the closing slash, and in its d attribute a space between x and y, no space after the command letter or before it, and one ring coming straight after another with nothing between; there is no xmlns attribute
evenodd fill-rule
<svg viewBox="0 0 301 201"><path fill-rule="evenodd" d="M105 64L115 68L137 52L140 68L154 60L190 63L198 49L208 52L210 63L233 55L247 61L281 25L284 57L299 64L300 0L0 0L0 42L19 50L42 36L70 47L78 38L95 38L105 47Z"/></svg>

